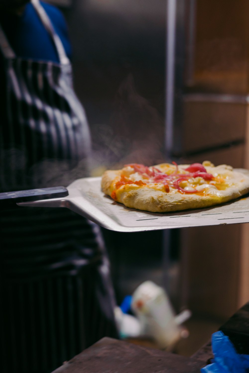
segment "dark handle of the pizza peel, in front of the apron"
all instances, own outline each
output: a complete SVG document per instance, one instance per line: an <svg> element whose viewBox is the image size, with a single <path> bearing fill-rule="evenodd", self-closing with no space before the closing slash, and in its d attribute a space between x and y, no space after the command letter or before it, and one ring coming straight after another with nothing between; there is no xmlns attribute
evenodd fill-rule
<svg viewBox="0 0 249 373"><path fill-rule="evenodd" d="M0 209L13 209L19 202L49 200L67 195L68 189L64 186L0 193Z"/></svg>

